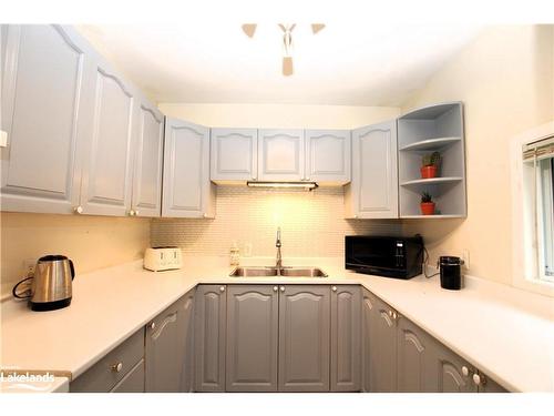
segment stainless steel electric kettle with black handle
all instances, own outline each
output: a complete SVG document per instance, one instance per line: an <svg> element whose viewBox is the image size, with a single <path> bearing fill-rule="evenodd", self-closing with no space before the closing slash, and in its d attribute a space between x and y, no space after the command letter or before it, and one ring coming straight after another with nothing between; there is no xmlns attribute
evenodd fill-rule
<svg viewBox="0 0 554 416"><path fill-rule="evenodd" d="M71 284L75 277L73 262L64 255L47 255L40 257L32 276L13 286L12 294L17 298L28 298L33 311L53 311L71 303ZM18 293L23 282L31 282L31 288Z"/></svg>

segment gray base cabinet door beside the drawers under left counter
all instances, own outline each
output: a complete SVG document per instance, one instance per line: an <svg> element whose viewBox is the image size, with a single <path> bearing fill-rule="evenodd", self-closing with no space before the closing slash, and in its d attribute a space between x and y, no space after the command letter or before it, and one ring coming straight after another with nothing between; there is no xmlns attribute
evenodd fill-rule
<svg viewBox="0 0 554 416"><path fill-rule="evenodd" d="M179 392L185 357L181 298L146 326L146 392Z"/></svg>

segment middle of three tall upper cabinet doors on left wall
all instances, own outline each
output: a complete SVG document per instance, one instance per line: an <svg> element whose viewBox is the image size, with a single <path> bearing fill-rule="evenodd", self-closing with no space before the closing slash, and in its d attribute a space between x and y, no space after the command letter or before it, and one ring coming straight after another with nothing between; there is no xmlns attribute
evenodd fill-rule
<svg viewBox="0 0 554 416"><path fill-rule="evenodd" d="M132 191L133 114L136 93L96 55L92 134L81 187L83 214L127 214Z"/></svg>

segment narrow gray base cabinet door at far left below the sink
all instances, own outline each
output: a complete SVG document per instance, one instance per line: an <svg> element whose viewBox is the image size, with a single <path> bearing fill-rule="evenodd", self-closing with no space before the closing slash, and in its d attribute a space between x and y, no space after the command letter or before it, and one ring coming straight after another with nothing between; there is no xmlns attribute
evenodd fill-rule
<svg viewBox="0 0 554 416"><path fill-rule="evenodd" d="M195 389L225 392L226 286L198 285L195 298Z"/></svg>

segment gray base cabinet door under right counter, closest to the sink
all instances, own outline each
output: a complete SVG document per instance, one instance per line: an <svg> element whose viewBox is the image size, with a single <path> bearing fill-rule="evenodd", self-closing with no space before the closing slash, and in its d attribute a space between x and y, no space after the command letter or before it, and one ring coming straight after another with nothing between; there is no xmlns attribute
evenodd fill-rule
<svg viewBox="0 0 554 416"><path fill-rule="evenodd" d="M381 300L370 295L375 308L370 323L370 390L389 393L397 390L397 326L392 310Z"/></svg>

